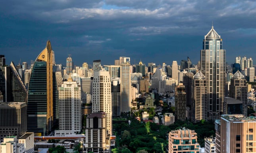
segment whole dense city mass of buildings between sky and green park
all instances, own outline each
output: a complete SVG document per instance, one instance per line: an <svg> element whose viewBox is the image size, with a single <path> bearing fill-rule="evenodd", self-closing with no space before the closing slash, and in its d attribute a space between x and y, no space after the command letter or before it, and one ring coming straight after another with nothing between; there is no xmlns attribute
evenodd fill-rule
<svg viewBox="0 0 256 153"><path fill-rule="evenodd" d="M109 152L112 120L139 108L161 112L154 105L159 94L167 95L164 102L175 107L175 114L155 116L155 123L215 121L216 139L206 138L205 152L256 151L255 118L247 117L248 105L256 110L254 86L248 84L256 80L252 58L239 56L232 67L227 66L222 39L213 26L204 36L196 65L189 57L171 66L146 66L142 61L132 65L129 57L120 57L114 65L94 60L92 66L85 62L74 67L69 55L64 67L55 63L50 41L30 68L27 62L8 66L5 61L0 55L0 149L8 144L29 150L23 142L34 140L34 135L72 136L84 128L85 152ZM142 120L148 120L146 111ZM234 130L241 133L233 134ZM186 128L169 132L169 152L184 151L199 153L196 133Z"/></svg>

